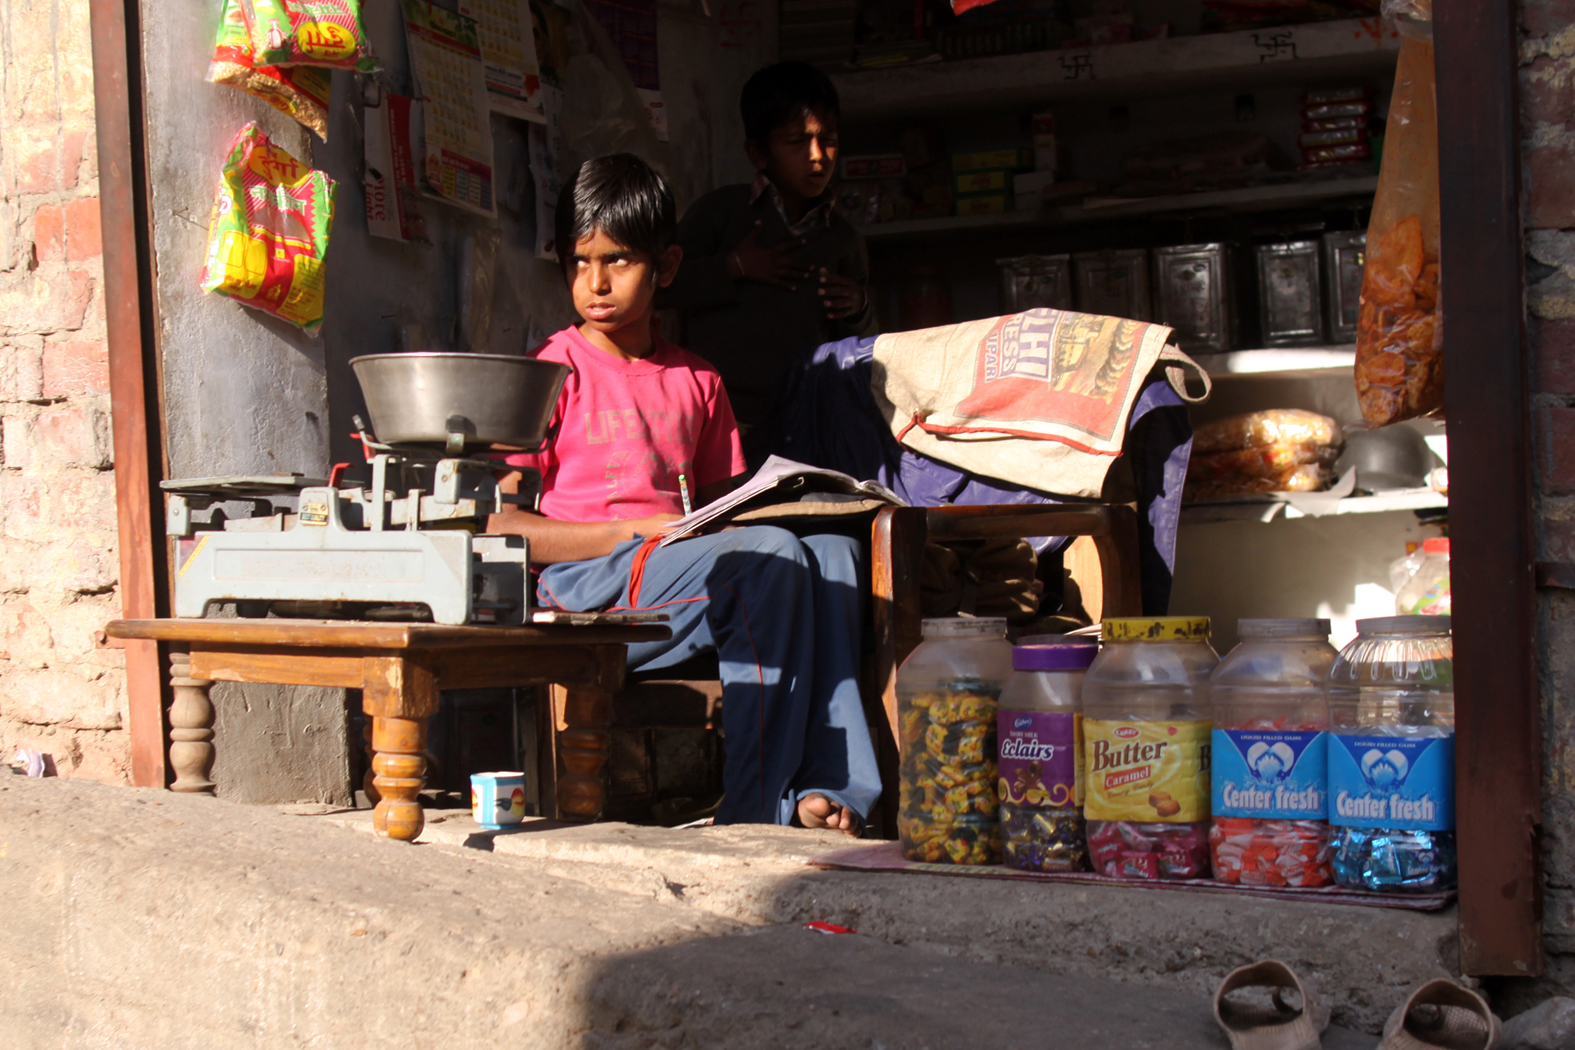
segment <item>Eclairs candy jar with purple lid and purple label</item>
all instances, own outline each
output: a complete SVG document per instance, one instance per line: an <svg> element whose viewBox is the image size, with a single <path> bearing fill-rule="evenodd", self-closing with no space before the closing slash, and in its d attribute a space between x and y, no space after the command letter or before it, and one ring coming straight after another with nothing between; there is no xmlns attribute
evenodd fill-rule
<svg viewBox="0 0 1575 1050"><path fill-rule="evenodd" d="M1088 869L1084 831L1082 682L1095 641L1017 645L995 718L1005 864Z"/></svg>

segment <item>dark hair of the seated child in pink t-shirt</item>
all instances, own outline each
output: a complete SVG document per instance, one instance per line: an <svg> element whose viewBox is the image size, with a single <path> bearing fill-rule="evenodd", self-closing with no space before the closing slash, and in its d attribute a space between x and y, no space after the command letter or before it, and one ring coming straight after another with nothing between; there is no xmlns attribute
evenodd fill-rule
<svg viewBox="0 0 1575 1050"><path fill-rule="evenodd" d="M558 194L554 219L558 263L564 269L575 257L575 244L595 230L652 260L679 238L668 181L633 153L581 164Z"/></svg>

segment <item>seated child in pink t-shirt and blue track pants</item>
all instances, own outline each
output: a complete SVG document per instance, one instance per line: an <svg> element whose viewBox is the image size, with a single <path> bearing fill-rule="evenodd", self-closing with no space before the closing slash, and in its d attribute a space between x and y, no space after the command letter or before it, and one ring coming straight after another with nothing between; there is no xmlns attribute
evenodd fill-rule
<svg viewBox="0 0 1575 1050"><path fill-rule="evenodd" d="M682 258L663 178L632 154L587 161L559 195L556 236L584 323L537 354L573 375L548 447L510 458L542 472L540 513L510 508L488 532L531 540L545 604L666 612L673 638L630 645L630 669L715 650L718 823L858 834L880 795L858 696L858 542L750 527L641 551L685 494L699 507L743 472L739 428L717 372L652 335L652 299Z"/></svg>

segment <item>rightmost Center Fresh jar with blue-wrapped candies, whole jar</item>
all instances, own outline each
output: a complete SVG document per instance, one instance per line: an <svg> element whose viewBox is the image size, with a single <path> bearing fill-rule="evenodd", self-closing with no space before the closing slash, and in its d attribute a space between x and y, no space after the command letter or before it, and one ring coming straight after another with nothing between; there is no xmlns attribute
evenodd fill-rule
<svg viewBox="0 0 1575 1050"><path fill-rule="evenodd" d="M1380 893L1455 885L1455 691L1447 616L1356 622L1329 669L1334 880Z"/></svg>

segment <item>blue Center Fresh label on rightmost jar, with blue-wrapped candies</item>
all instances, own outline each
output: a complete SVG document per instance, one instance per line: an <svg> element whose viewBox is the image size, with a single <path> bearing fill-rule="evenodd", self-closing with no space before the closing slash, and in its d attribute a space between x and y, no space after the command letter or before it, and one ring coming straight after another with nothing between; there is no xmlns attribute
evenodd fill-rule
<svg viewBox="0 0 1575 1050"><path fill-rule="evenodd" d="M1329 741L1329 823L1449 831L1455 826L1455 738L1347 737Z"/></svg>

